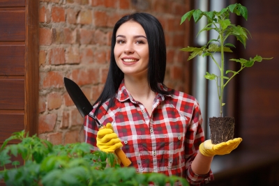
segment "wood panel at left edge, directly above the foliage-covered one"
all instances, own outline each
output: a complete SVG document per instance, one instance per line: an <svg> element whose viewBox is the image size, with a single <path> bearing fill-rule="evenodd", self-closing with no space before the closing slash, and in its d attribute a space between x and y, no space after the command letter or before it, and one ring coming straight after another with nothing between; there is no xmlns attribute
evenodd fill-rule
<svg viewBox="0 0 279 186"><path fill-rule="evenodd" d="M0 79L0 109L24 109L24 79Z"/></svg>

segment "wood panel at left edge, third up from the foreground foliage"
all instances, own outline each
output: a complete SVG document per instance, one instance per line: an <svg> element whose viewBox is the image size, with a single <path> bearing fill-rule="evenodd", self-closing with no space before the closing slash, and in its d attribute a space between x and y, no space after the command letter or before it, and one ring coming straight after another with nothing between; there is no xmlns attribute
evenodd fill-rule
<svg viewBox="0 0 279 186"><path fill-rule="evenodd" d="M24 75L24 45L0 45L0 75Z"/></svg>

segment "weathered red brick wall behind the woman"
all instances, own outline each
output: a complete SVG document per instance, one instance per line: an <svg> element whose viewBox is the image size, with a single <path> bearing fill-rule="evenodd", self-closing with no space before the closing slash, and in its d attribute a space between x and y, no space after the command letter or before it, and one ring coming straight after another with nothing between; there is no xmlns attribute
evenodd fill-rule
<svg viewBox="0 0 279 186"><path fill-rule="evenodd" d="M112 29L123 15L151 13L160 20L167 41L165 84L186 90L186 0L40 0L40 138L54 144L83 141L83 118L63 85L73 79L93 103L103 89L110 61Z"/></svg>

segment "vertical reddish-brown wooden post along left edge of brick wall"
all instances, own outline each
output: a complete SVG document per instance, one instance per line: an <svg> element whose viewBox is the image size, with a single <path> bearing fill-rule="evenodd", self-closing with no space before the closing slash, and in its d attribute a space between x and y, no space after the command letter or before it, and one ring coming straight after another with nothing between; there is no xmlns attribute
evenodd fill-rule
<svg viewBox="0 0 279 186"><path fill-rule="evenodd" d="M24 130L29 135L38 132L39 91L39 21L38 0L25 0L25 106Z"/></svg>

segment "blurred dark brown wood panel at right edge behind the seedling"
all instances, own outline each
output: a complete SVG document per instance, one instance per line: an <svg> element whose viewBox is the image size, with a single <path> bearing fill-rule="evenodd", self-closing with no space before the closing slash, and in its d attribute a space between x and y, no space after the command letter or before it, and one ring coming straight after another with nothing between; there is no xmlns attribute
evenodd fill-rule
<svg viewBox="0 0 279 186"><path fill-rule="evenodd" d="M248 22L239 24L250 31L252 39L236 53L243 59L256 54L273 59L256 62L237 75L236 123L243 149L271 150L279 144L279 1L239 3L248 8Z"/></svg>

